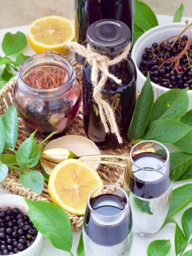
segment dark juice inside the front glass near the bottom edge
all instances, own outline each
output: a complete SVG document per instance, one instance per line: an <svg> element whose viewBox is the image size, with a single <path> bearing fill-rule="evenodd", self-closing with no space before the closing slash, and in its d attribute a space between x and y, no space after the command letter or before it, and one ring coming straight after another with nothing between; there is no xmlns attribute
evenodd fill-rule
<svg viewBox="0 0 192 256"><path fill-rule="evenodd" d="M114 194L103 194L95 197L91 201L91 206L95 212L104 216L112 217L121 213L125 209L126 198L119 197ZM86 210L86 223L84 222L85 233L89 238L98 245L113 246L122 243L127 236L130 235L132 229L132 217L131 211L125 210L123 218L121 214L111 220L111 225L105 223L105 220L101 222L101 216L94 218L94 214L89 208ZM118 218L120 219L118 221ZM122 218L122 220L121 220Z"/></svg>

